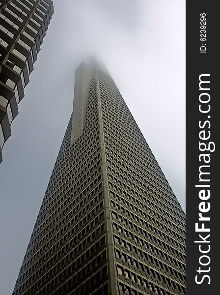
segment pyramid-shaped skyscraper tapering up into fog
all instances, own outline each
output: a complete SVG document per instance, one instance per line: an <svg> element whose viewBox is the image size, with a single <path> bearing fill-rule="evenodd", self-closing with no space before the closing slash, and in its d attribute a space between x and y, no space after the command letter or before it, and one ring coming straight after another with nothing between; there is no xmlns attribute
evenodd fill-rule
<svg viewBox="0 0 220 295"><path fill-rule="evenodd" d="M183 295L184 236L185 214L119 90L82 63L13 295Z"/></svg>

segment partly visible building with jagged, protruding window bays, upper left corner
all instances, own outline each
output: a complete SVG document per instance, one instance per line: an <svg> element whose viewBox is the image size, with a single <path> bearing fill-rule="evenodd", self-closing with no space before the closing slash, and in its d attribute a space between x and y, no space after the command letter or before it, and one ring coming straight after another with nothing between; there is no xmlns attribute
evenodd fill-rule
<svg viewBox="0 0 220 295"><path fill-rule="evenodd" d="M53 13L51 0L0 0L0 162Z"/></svg>

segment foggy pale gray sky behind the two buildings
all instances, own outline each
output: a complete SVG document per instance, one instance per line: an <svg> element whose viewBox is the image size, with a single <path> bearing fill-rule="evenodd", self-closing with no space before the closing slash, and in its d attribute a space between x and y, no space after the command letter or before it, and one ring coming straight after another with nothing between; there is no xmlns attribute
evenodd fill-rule
<svg viewBox="0 0 220 295"><path fill-rule="evenodd" d="M54 0L0 164L0 295L22 264L73 105L74 71L105 63L185 210L185 1Z"/></svg>

